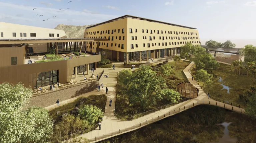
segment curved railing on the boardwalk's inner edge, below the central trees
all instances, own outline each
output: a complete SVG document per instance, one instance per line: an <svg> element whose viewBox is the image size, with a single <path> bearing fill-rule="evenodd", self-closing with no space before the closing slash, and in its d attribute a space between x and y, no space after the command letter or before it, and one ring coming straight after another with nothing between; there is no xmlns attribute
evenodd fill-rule
<svg viewBox="0 0 256 143"><path fill-rule="evenodd" d="M130 120L133 120L133 119L137 119L137 118L140 118L140 117L143 117L145 115L148 115L150 113L153 113L153 112L156 112L156 111L160 111L162 109L165 109L165 108L168 108L168 107L171 107L171 106L174 106L174 105L177 105L179 103L182 103L184 101L187 101L187 100L190 100L191 97L188 97L188 98L184 98L182 100L179 100L177 102L174 102L174 103L171 103L171 104L167 104L167 105L164 105L164 106L161 106L161 107L157 107L157 108L154 108L152 110L149 110L149 111L146 111L146 112L143 112L143 113L140 113L140 114L137 114L137 115L134 115L134 116L131 116L131 117L122 117L122 116L119 116L115 113L115 110L114 110L114 115L116 118L118 118L119 120L122 120L122 121L130 121Z"/></svg>

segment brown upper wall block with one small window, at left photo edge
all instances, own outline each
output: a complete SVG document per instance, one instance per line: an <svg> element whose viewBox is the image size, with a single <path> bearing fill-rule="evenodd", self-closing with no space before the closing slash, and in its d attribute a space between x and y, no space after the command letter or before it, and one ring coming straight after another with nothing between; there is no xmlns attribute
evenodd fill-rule
<svg viewBox="0 0 256 143"><path fill-rule="evenodd" d="M17 57L17 65L22 65L25 63L25 47L0 47L0 67L10 66L11 57ZM13 66L13 65L12 65Z"/></svg>

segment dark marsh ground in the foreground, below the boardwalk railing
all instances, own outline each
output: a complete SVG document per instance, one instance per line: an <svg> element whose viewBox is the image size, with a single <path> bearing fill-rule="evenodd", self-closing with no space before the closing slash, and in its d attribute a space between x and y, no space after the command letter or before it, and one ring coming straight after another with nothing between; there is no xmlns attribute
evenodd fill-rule
<svg viewBox="0 0 256 143"><path fill-rule="evenodd" d="M224 126L216 124L223 122L232 122L228 126L230 138L237 138L239 143L256 142L256 122L247 115L221 107L199 105L101 143L218 142L223 137Z"/></svg>

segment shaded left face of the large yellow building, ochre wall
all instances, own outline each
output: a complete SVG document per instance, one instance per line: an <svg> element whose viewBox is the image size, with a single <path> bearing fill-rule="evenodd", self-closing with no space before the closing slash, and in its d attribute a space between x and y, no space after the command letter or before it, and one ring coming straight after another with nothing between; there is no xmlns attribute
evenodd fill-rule
<svg viewBox="0 0 256 143"><path fill-rule="evenodd" d="M120 32L118 33L118 29L120 29ZM124 29L124 33L122 34L122 29ZM108 30L110 31L110 34L108 34ZM114 32L114 34L111 34L112 30L116 30L116 32ZM100 34L102 31L102 34ZM104 34L103 34L104 31ZM106 33L107 31L107 33ZM129 32L129 31L128 31ZM89 34L86 34L89 33ZM92 33L92 35L90 35ZM94 34L96 33L96 34ZM103 49L109 49L109 50L115 50L115 51L121 51L121 52L127 52L127 18L125 19L121 19L118 21L114 21L111 23L106 23L104 25L100 25L94 28L89 28L86 29L84 32L84 37L85 38L106 38L108 39L108 37L110 36L110 40L109 41L103 41L100 42L100 46L99 48L103 48ZM112 41L111 38L114 38L114 40ZM116 39L117 36L117 39ZM121 36L121 40L119 40L119 36ZM125 36L125 40L123 40L123 36ZM103 43L103 45L102 45ZM104 45L105 43L105 45ZM107 43L108 43L108 47L107 47ZM113 46L111 47L111 43L113 43ZM115 44L117 44L115 46ZM118 44L120 44L120 47L118 47ZM124 44L124 49L121 49L122 44ZM90 44L89 42L86 43L86 51L90 51ZM96 42L94 43L94 45L92 44L92 52L96 52L96 47L97 44ZM130 47L129 47L130 48Z"/></svg>

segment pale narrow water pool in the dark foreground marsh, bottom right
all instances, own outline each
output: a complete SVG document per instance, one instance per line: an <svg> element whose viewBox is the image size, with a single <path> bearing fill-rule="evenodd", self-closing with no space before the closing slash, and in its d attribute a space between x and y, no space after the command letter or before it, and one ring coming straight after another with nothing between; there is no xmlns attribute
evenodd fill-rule
<svg viewBox="0 0 256 143"><path fill-rule="evenodd" d="M224 128L224 135L222 138L219 139L218 142L210 142L210 143L236 143L237 142L237 138L230 138L229 136L229 131L228 131L228 126L231 124L230 123L227 123L227 122L224 122L224 123L221 123L221 124L217 124L217 125L223 125L225 128Z"/></svg>

